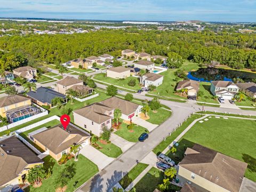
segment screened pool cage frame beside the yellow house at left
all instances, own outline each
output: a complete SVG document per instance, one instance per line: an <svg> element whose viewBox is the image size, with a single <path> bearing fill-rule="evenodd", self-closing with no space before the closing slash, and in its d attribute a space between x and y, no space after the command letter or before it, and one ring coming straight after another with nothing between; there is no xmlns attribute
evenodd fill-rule
<svg viewBox="0 0 256 192"><path fill-rule="evenodd" d="M18 121L20 121L27 118L27 115L29 115L28 117L31 117L39 113L41 113L41 110L35 106L22 106L6 111L6 118L8 122L14 123L17 121L13 121L13 119L18 118Z"/></svg>

